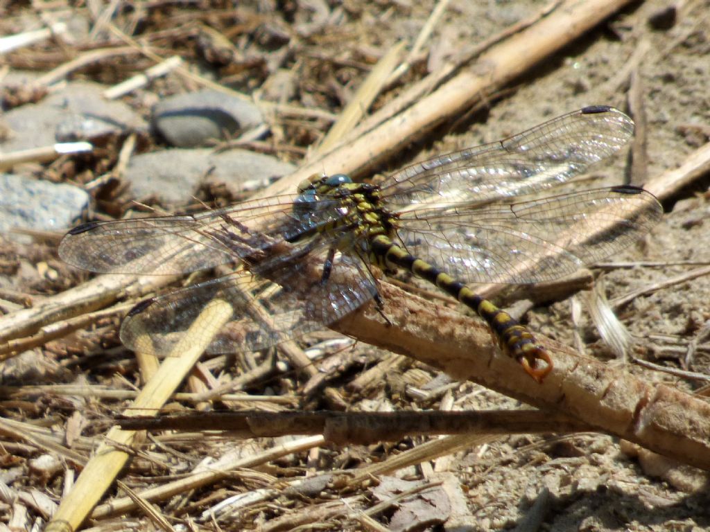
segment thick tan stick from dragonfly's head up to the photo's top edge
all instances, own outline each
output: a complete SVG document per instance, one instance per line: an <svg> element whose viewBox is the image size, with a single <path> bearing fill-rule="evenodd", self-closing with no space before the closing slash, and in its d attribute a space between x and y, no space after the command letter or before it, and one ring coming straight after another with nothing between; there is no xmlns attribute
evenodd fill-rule
<svg viewBox="0 0 710 532"><path fill-rule="evenodd" d="M443 121L467 111L530 67L583 35L629 0L568 0L549 16L512 35L479 57L437 91L398 116L320 160L300 168L258 194L284 194L312 174L362 174Z"/></svg>

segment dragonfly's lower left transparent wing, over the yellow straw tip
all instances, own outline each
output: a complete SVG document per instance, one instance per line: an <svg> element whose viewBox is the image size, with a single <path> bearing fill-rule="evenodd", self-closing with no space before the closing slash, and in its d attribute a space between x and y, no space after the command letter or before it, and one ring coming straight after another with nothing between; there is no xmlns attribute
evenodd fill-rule
<svg viewBox="0 0 710 532"><path fill-rule="evenodd" d="M322 328L376 294L359 257L337 253L324 278L326 260L323 250L268 272L270 279L236 272L148 299L124 320L121 341L133 350L169 355L213 299L231 304L232 316L212 338L209 353L264 349Z"/></svg>

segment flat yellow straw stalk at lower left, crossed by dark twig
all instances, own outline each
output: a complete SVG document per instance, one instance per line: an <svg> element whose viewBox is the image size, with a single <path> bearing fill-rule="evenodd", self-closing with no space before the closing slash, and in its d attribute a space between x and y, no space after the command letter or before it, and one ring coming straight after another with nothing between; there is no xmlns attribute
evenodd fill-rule
<svg viewBox="0 0 710 532"><path fill-rule="evenodd" d="M219 328L229 321L231 314L231 305L226 301L211 301L175 346L172 355L163 360L126 414L154 416L192 370ZM47 532L74 531L80 526L126 464L130 455L119 449L133 445L136 434L135 431L111 428L106 436L107 442L99 446L72 490L62 499L57 513L48 523Z"/></svg>

